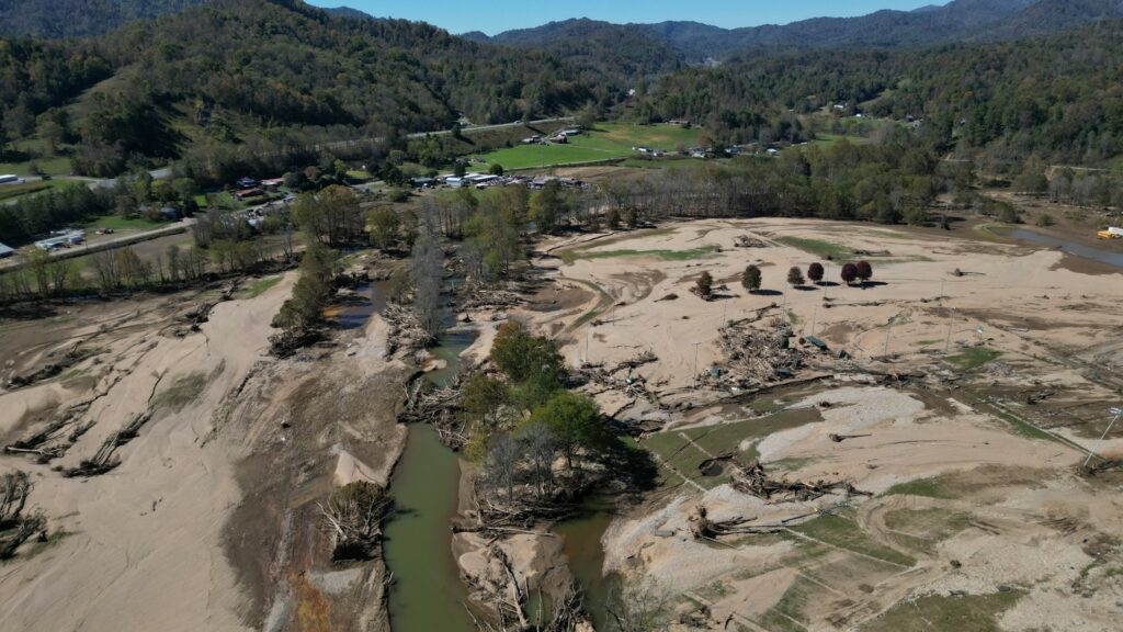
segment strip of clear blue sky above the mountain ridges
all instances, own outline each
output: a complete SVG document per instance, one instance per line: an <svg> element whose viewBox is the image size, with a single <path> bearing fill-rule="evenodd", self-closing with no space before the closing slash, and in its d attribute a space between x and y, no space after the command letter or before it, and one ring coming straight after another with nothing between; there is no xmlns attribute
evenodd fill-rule
<svg viewBox="0 0 1123 632"><path fill-rule="evenodd" d="M613 22L694 20L725 28L787 24L820 16L861 16L878 9L911 10L947 0L305 0L318 7L346 6L377 17L423 20L453 33L489 35L568 18Z"/></svg>

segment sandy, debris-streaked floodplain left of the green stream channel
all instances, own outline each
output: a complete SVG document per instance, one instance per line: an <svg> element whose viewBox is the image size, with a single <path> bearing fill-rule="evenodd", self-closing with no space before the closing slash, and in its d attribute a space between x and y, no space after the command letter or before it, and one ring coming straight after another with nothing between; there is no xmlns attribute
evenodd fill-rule
<svg viewBox="0 0 1123 632"><path fill-rule="evenodd" d="M384 358L377 317L335 346L270 356L293 280L259 296L214 288L3 323L4 383L82 353L0 390L4 445L65 421L42 444L62 446L58 458L0 457L0 471L30 473L29 505L52 534L0 567L0 629L389 628L384 567L332 565L316 503L356 478L386 484L407 370ZM200 306L209 315L192 326ZM119 466L63 476L140 415Z"/></svg>

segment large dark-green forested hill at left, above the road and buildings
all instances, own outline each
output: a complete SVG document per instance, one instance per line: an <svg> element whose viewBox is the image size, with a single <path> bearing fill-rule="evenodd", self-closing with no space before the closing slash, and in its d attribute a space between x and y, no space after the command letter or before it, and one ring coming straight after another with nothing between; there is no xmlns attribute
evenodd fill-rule
<svg viewBox="0 0 1123 632"><path fill-rule="evenodd" d="M213 0L93 40L0 42L10 136L111 74L51 119L81 172L200 146L258 154L332 137L384 137L560 114L622 91L557 57L480 45L404 20L332 17L298 0ZM46 67L44 73L38 69ZM52 76L60 78L57 80ZM208 162L200 160L199 162Z"/></svg>

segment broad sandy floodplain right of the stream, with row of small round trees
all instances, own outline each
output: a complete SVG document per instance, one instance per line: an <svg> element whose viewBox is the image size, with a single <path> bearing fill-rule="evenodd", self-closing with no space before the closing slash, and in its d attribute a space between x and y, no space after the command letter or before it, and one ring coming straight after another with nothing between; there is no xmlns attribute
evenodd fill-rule
<svg viewBox="0 0 1123 632"><path fill-rule="evenodd" d="M647 428L640 444L661 473L604 535L604 570L654 579L714 630L1116 629L1123 476L1078 466L1092 449L1123 457L1123 428L1098 442L1121 401L1123 270L1070 259L797 219L541 246L535 263L554 283L513 316L557 336L574 367L606 372L590 391ZM848 287L841 265L857 260L874 277ZM805 276L813 262L828 282L788 286L792 267ZM759 292L741 287L749 264ZM691 291L702 272L709 301ZM719 328L746 318L788 325L803 367L737 380ZM641 354L656 358L630 373L642 392L617 369ZM733 489L715 458L861 494L763 499ZM700 505L782 529L697 540Z"/></svg>

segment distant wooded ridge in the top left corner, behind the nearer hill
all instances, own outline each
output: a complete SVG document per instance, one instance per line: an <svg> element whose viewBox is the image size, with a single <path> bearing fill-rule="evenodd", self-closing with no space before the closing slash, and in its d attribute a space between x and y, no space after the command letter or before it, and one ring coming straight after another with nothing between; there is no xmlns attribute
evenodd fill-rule
<svg viewBox="0 0 1123 632"><path fill-rule="evenodd" d="M0 0L0 35L47 38L100 35L207 0Z"/></svg>

